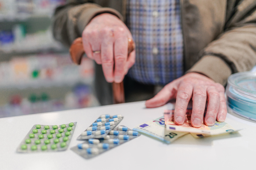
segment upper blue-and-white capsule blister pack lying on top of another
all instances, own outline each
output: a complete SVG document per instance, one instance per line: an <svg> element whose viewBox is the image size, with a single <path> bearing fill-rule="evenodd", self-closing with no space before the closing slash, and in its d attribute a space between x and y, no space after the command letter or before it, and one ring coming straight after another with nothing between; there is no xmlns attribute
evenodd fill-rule
<svg viewBox="0 0 256 170"><path fill-rule="evenodd" d="M77 139L104 138L123 118L124 117L120 114L114 116L110 116L109 114L101 115L99 116L99 119L82 132Z"/></svg>

